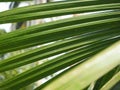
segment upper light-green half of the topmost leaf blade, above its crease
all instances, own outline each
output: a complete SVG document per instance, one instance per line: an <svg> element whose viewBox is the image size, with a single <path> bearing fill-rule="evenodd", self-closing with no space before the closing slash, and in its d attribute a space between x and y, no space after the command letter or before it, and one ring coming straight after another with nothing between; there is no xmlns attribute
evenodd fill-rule
<svg viewBox="0 0 120 90"><path fill-rule="evenodd" d="M21 8L15 8L12 10L4 11L0 14L0 17L22 14L22 13L31 13L38 11L49 11L49 10L57 10L57 9L65 9L71 7L81 7L81 6L90 6L90 5L99 5L99 4L111 4L111 3L120 3L118 0L109 0L109 1L97 1L97 0L78 0L78 1L70 1L70 2L57 2L57 3L47 3L47 4L38 4L32 6L26 6Z"/></svg>

